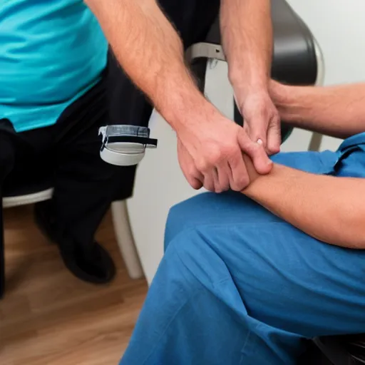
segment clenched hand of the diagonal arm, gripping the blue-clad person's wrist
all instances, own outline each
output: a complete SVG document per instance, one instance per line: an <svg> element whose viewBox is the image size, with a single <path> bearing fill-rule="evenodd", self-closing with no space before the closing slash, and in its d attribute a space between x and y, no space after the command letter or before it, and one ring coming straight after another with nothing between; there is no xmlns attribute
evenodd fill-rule
<svg viewBox="0 0 365 365"><path fill-rule="evenodd" d="M241 191L250 184L242 153L247 154L259 174L267 174L272 162L264 148L245 130L219 115L194 129L178 132L178 158L185 178L195 189L213 192Z"/></svg>

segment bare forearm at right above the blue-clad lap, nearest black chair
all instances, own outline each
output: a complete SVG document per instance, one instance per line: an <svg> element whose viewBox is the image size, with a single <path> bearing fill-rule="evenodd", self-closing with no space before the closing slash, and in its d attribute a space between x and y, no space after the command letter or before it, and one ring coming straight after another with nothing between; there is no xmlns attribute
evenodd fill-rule
<svg viewBox="0 0 365 365"><path fill-rule="evenodd" d="M365 131L365 83L345 86L283 86L270 94L282 120L307 130L347 138Z"/></svg>

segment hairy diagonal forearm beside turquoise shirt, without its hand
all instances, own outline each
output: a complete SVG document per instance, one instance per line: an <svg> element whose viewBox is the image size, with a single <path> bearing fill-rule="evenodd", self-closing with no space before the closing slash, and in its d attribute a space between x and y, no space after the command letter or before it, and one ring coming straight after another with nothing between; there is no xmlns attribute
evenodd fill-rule
<svg viewBox="0 0 365 365"><path fill-rule="evenodd" d="M185 67L183 44L155 0L85 0L131 80L178 129L214 113ZM204 110L202 110L204 109Z"/></svg>

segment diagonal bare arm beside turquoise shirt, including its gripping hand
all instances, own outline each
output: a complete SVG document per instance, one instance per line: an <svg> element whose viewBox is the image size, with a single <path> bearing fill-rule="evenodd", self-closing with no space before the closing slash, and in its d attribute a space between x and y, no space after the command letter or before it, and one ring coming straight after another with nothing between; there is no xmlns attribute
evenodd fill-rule
<svg viewBox="0 0 365 365"><path fill-rule="evenodd" d="M185 67L183 44L156 0L84 1L124 71L178 134L180 166L192 187L242 190L249 183L242 151L259 173L269 172L262 146L219 113L195 86Z"/></svg>

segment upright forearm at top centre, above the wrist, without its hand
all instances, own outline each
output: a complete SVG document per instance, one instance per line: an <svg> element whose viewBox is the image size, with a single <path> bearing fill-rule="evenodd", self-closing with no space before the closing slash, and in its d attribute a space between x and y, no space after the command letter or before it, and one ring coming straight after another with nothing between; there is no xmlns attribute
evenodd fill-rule
<svg viewBox="0 0 365 365"><path fill-rule="evenodd" d="M222 0L220 24L235 92L266 89L272 61L270 0Z"/></svg>

